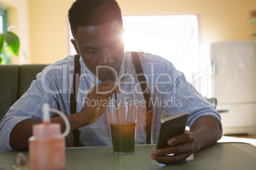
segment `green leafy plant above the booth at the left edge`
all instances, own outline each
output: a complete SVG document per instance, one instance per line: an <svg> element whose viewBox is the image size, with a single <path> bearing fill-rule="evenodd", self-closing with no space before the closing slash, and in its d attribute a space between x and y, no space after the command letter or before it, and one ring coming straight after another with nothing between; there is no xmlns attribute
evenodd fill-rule
<svg viewBox="0 0 256 170"><path fill-rule="evenodd" d="M11 62L11 56L18 56L20 41L13 32L6 31L0 34L0 64Z"/></svg>

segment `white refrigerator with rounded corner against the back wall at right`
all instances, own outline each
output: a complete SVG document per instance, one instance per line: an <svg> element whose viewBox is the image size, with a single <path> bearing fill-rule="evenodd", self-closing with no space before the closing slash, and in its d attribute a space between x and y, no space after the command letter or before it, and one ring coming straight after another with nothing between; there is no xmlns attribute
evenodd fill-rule
<svg viewBox="0 0 256 170"><path fill-rule="evenodd" d="M256 134L256 44L216 42L210 46L215 81L212 91L221 113L224 134Z"/></svg>

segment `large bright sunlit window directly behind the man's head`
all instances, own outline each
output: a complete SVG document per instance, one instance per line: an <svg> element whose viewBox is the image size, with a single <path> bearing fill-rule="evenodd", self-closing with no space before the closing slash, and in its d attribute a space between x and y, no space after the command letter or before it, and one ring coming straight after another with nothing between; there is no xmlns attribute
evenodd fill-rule
<svg viewBox="0 0 256 170"><path fill-rule="evenodd" d="M162 56L199 88L198 81L192 82L199 71L198 15L123 16L123 22L125 51ZM69 51L76 53L71 43Z"/></svg>

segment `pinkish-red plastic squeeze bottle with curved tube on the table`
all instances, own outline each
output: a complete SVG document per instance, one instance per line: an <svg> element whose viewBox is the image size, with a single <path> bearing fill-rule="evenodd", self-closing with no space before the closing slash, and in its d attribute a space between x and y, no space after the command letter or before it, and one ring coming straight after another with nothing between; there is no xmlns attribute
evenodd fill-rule
<svg viewBox="0 0 256 170"><path fill-rule="evenodd" d="M66 131L60 133L60 124L50 123L49 111L56 112L66 122ZM65 169L65 136L69 134L69 121L59 110L43 105L43 123L32 127L29 138L29 162L31 170Z"/></svg>

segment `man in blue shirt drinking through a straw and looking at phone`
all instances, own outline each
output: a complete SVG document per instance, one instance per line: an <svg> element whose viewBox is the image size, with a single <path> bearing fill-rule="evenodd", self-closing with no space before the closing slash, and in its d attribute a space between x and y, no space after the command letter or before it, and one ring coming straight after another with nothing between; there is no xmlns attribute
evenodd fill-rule
<svg viewBox="0 0 256 170"><path fill-rule="evenodd" d="M83 146L111 145L106 108L113 93L118 93L118 101L145 100L131 53L124 52L124 30L117 2L77 0L69 10L69 22L74 37L71 42L81 65L77 113L70 114L74 56L68 56L38 74L31 88L10 108L0 124L0 149L27 150L32 125L41 123L43 103L50 103L50 107L67 115L71 131L79 128ZM174 164L216 143L222 136L222 124L210 103L170 62L160 56L138 54L153 103L152 143L157 141L162 110L170 115L190 113L187 123L190 131L169 139L169 147L153 150L152 159ZM136 144L146 142L145 110L145 106L138 110ZM60 117L53 117L51 121L60 123L64 131ZM66 138L66 145L73 146L72 133Z"/></svg>

